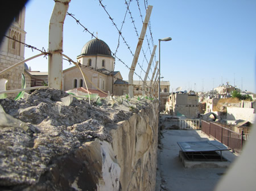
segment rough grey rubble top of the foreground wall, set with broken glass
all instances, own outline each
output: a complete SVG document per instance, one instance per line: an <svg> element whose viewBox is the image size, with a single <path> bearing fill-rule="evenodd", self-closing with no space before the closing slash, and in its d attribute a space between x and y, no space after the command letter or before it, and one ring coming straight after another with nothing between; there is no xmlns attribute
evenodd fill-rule
<svg viewBox="0 0 256 191"><path fill-rule="evenodd" d="M112 142L111 130L148 106L150 100L110 97L102 105L89 104L71 96L68 105L64 91L40 89L24 99L1 99L0 186L19 190L39 182L57 158L71 154L84 143L97 139ZM20 128L22 127L22 128ZM42 189L43 190L43 189Z"/></svg>

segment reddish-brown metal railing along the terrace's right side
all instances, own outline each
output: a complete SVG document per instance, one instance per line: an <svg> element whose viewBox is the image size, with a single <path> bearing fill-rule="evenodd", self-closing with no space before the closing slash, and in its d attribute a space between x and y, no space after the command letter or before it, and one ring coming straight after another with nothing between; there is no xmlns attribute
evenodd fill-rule
<svg viewBox="0 0 256 191"><path fill-rule="evenodd" d="M203 120L201 120L201 130L209 137L217 139L238 153L241 152L243 145L249 138L249 134L243 133L243 130L241 133L237 133L233 130L225 128L224 126L221 126L220 124L206 122Z"/></svg>

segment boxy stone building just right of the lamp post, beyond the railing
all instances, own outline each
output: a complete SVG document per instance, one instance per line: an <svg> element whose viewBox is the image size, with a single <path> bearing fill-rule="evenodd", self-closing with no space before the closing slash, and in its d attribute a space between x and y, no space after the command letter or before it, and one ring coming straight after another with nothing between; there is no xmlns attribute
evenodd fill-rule
<svg viewBox="0 0 256 191"><path fill-rule="evenodd" d="M198 97L193 91L188 94L172 93L166 104L166 111L174 116L184 115L187 118L197 118L199 114Z"/></svg>

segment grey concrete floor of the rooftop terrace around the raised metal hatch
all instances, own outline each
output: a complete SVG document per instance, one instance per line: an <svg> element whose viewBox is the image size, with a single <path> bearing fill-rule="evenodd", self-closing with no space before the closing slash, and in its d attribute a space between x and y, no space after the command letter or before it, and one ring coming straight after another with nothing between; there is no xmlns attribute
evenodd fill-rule
<svg viewBox="0 0 256 191"><path fill-rule="evenodd" d="M184 168L179 159L177 142L213 140L201 130L162 130L156 174L156 191L205 191L213 190L228 168ZM233 162L237 155L222 151L222 155Z"/></svg>

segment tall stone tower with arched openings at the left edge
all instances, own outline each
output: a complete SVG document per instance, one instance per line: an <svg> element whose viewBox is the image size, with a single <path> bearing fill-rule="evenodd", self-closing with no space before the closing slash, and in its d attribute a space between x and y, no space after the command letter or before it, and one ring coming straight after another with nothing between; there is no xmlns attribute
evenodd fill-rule
<svg viewBox="0 0 256 191"><path fill-rule="evenodd" d="M3 37L0 47L0 71L7 69L8 67L24 60L24 45L18 43L18 40L25 43L26 32L24 31L25 24L25 8L14 18L13 23L6 32L6 36ZM14 39L14 40L13 40ZM22 86L22 74L27 81L27 87L30 87L31 75L28 73L26 64L20 64L14 69L11 69L7 73L0 76L0 79L7 79L7 90L20 89Z"/></svg>

